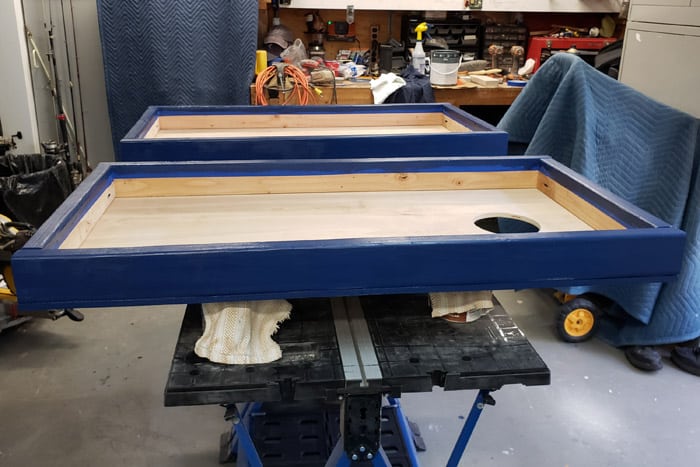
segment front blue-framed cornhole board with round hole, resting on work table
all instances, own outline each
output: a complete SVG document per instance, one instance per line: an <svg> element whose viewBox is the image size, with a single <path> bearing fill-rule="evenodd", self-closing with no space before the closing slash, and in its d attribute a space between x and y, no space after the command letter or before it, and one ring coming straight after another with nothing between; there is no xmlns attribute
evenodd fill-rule
<svg viewBox="0 0 700 467"><path fill-rule="evenodd" d="M112 163L12 265L33 310L663 281L684 238L544 156Z"/></svg>

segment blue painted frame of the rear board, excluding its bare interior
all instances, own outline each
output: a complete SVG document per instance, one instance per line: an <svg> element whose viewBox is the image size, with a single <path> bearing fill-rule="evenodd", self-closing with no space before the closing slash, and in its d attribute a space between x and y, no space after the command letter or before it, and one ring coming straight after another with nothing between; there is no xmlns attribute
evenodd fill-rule
<svg viewBox="0 0 700 467"><path fill-rule="evenodd" d="M442 113L469 133L231 138L143 139L158 116ZM497 156L508 152L508 134L450 104L354 106L149 107L120 142L120 160L230 160L386 156Z"/></svg>

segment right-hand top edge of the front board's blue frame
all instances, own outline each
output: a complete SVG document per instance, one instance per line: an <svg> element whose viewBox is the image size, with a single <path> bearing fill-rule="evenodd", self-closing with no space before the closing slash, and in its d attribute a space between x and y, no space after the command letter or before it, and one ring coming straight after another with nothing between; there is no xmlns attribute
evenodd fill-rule
<svg viewBox="0 0 700 467"><path fill-rule="evenodd" d="M541 171L627 227L672 227L552 158L542 160Z"/></svg>

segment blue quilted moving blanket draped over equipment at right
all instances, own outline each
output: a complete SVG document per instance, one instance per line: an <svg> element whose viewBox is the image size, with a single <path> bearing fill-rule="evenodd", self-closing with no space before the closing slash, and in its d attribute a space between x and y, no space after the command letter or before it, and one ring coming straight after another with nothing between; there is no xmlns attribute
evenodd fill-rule
<svg viewBox="0 0 700 467"><path fill-rule="evenodd" d="M526 154L550 155L639 208L689 229L683 271L673 282L573 291L603 294L625 311L625 318L605 323L600 336L613 345L651 345L700 335L700 254L693 247L698 120L574 55L557 54L535 73L498 128L511 141L527 143Z"/></svg>

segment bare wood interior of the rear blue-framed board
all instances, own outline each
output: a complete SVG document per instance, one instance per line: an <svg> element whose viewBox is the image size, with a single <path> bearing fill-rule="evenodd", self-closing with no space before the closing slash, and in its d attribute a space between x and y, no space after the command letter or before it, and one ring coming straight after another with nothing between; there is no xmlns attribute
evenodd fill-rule
<svg viewBox="0 0 700 467"><path fill-rule="evenodd" d="M164 115L155 120L144 139L401 135L469 131L469 128L440 112Z"/></svg>

